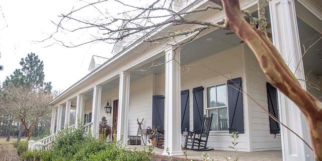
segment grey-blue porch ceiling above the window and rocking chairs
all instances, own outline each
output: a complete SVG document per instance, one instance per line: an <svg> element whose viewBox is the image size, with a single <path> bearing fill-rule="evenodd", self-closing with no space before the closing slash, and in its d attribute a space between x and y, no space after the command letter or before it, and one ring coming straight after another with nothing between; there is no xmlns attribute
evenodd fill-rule
<svg viewBox="0 0 322 161"><path fill-rule="evenodd" d="M238 46L241 40L234 34L226 35L227 32L231 32L231 30L218 29L184 45L180 52L181 65L187 65L210 55ZM143 77L150 73L164 73L166 70L165 62L166 57L161 56L137 67L131 72L131 81L133 79L132 75Z"/></svg>

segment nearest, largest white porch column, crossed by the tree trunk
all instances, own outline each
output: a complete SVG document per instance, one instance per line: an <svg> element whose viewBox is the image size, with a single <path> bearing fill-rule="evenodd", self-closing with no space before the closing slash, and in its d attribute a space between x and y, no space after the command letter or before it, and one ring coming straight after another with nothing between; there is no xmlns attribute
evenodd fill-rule
<svg viewBox="0 0 322 161"><path fill-rule="evenodd" d="M273 43L290 70L293 73L296 70L296 78L305 79L294 0L273 0L269 3ZM296 69L298 62L300 62L300 65ZM304 82L300 82L300 84L305 88ZM298 107L282 93L278 92L278 96L280 121L310 143L307 123ZM283 160L313 160L312 151L284 127L281 128L281 137Z"/></svg>

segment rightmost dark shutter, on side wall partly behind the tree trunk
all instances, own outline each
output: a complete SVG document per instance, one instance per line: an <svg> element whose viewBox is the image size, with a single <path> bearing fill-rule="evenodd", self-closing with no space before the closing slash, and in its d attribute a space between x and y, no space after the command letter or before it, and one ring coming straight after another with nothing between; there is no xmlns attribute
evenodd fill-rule
<svg viewBox="0 0 322 161"><path fill-rule="evenodd" d="M267 89L267 101L268 101L268 111L270 114L278 118L278 105L277 105L277 91L274 86L266 83ZM280 124L273 120L271 117L270 119L270 132L271 134L279 134L280 133Z"/></svg>

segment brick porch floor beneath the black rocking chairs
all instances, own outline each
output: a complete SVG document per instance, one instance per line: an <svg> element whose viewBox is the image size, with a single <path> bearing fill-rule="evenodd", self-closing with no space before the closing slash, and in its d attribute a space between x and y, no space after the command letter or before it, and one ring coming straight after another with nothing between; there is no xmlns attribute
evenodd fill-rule
<svg viewBox="0 0 322 161"><path fill-rule="evenodd" d="M144 147L147 148L147 146L144 145L128 145L129 149L138 149L142 150ZM161 155L163 153L162 148L154 147L153 152L154 159L153 160L168 160L168 156ZM209 154L209 157L213 158L214 160L225 160L224 157L228 157L229 155L232 155L232 151L224 151L224 150L210 150L205 151ZM203 151L193 151L193 150L187 150L187 157L188 160L195 159L195 160L203 160L203 156L201 155ZM236 156L239 158L239 160L249 160L249 161L257 161L257 160L283 160L282 158L282 150L267 150L267 151L255 151L255 152L242 152L237 151ZM173 158L173 160L184 160L184 156L176 156Z"/></svg>

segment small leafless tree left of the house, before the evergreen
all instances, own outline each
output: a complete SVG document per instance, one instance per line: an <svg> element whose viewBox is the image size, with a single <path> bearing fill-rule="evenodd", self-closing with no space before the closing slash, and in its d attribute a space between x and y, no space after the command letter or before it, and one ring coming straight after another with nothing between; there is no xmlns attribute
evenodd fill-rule
<svg viewBox="0 0 322 161"><path fill-rule="evenodd" d="M8 85L0 94L0 111L21 121L29 140L38 121L51 113L48 105L51 99L51 94L45 91Z"/></svg>

